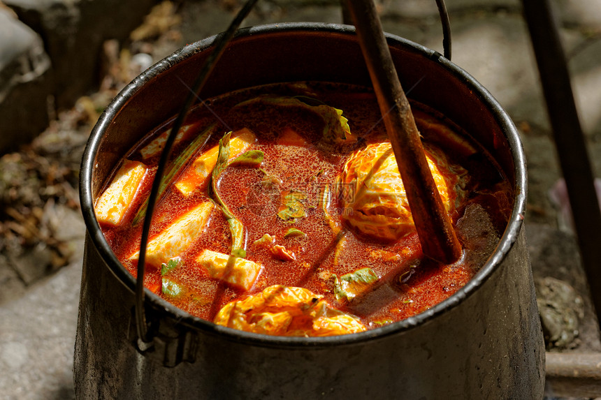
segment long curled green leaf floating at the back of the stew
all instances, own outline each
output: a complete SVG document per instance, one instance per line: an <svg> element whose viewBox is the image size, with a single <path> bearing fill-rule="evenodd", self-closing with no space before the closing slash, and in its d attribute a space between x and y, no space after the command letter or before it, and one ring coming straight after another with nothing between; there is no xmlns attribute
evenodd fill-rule
<svg viewBox="0 0 601 400"><path fill-rule="evenodd" d="M349 120L346 117L342 117L342 110L321 103L321 101L305 96L283 97L266 95L244 101L236 105L236 107L250 105L252 103L264 103L270 106L275 105L280 107L298 107L309 110L310 112L319 115L324 121L324 131L322 135L326 142L331 145L342 145L357 141L356 137L351 134ZM310 105L308 103L315 103L317 105Z"/></svg>

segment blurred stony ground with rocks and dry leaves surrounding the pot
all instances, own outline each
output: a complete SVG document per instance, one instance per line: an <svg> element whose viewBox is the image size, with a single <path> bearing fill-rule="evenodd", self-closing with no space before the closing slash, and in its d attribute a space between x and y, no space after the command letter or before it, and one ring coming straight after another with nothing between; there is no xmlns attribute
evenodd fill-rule
<svg viewBox="0 0 601 400"><path fill-rule="evenodd" d="M434 0L376 3L385 31L442 53ZM0 0L0 397L73 398L85 236L78 170L96 119L145 68L224 31L241 4ZM601 2L551 5L601 177ZM547 348L601 353L521 1L447 0L447 7L452 61L491 91L523 140L526 233ZM340 3L261 0L243 25L301 21L341 23ZM548 386L547 395L567 394Z"/></svg>

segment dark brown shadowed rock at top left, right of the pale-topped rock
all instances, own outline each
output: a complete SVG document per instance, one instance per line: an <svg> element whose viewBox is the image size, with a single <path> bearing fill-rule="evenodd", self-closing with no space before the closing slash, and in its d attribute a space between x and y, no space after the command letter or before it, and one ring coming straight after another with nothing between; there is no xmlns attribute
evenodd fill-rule
<svg viewBox="0 0 601 400"><path fill-rule="evenodd" d="M154 0L5 0L45 40L52 60L55 100L68 108L99 80L102 43L124 40Z"/></svg>

